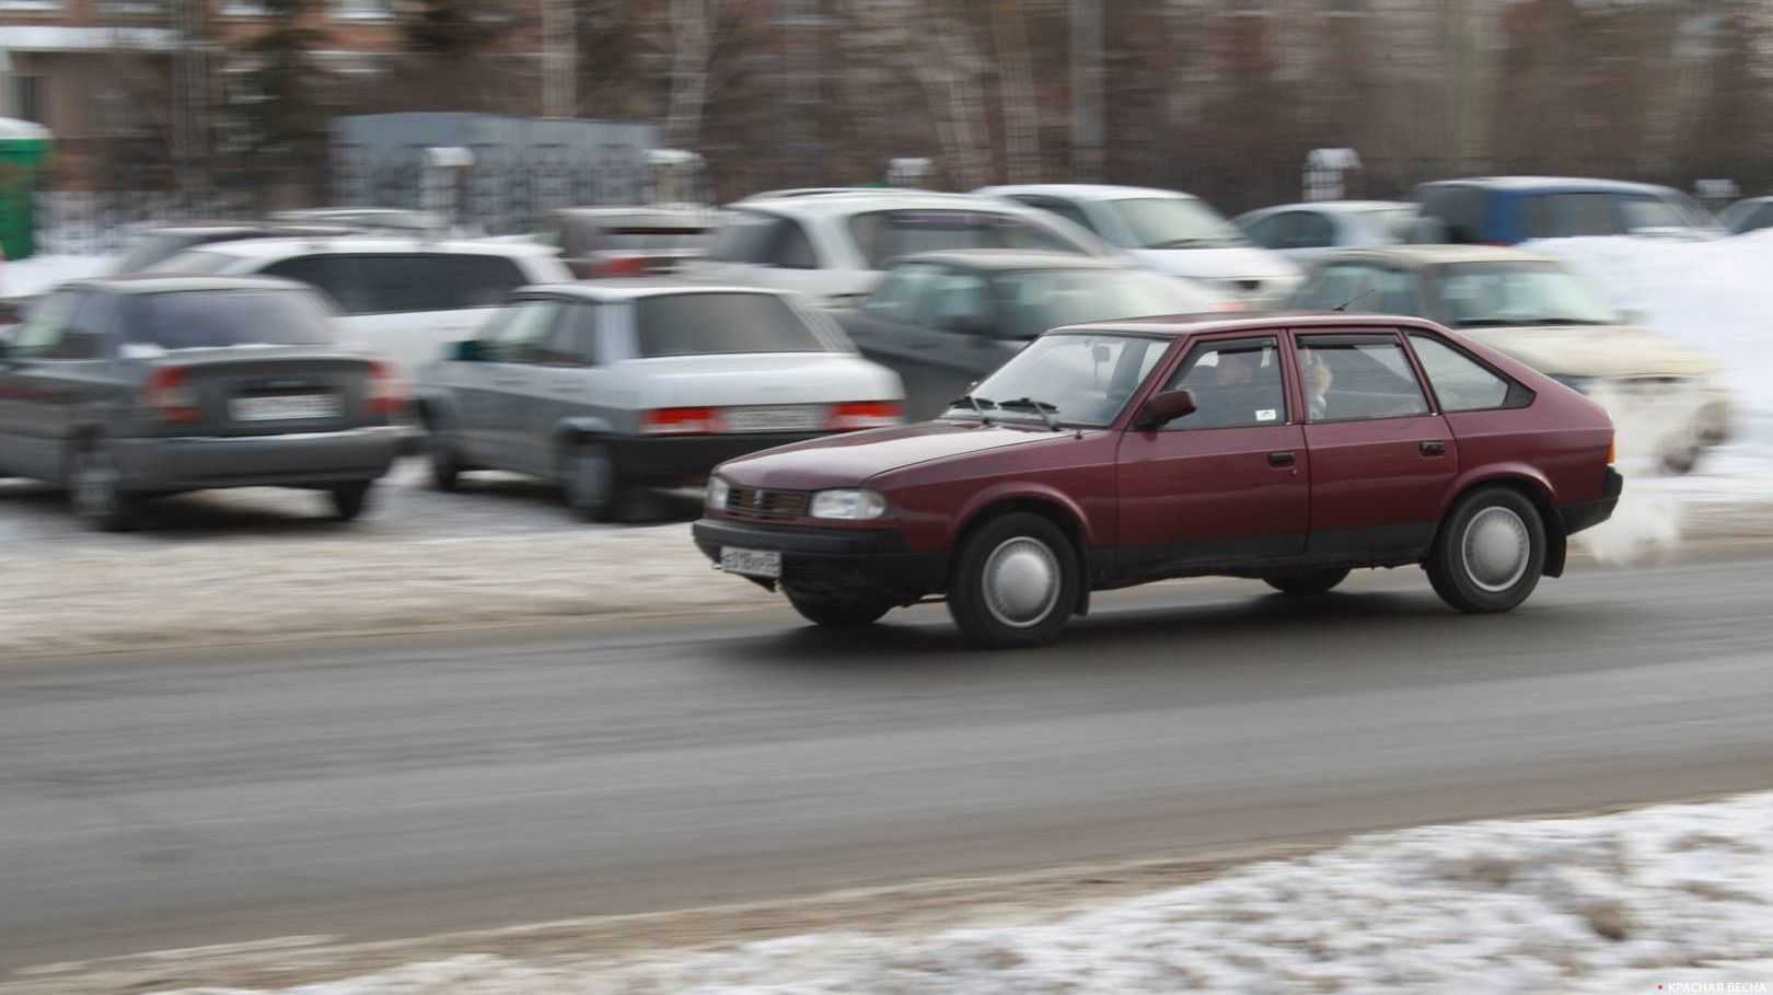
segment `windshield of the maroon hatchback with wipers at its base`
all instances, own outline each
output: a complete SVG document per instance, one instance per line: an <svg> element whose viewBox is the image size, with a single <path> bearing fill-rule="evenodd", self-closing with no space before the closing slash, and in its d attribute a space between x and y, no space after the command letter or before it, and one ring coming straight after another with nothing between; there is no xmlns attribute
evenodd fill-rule
<svg viewBox="0 0 1773 995"><path fill-rule="evenodd" d="M1168 348L1170 339L1154 335L1110 332L1044 335L988 376L973 388L972 397L991 420L1043 422L1041 410L1025 403L1037 401L1060 424L1106 426L1151 376L1151 369ZM998 404L1011 406L998 408ZM943 417L977 420L980 413L961 401Z"/></svg>

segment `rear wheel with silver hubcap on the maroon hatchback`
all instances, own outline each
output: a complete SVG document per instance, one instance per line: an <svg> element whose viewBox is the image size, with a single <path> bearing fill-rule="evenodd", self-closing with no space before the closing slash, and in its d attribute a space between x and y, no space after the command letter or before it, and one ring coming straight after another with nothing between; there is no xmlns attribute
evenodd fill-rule
<svg viewBox="0 0 1773 995"><path fill-rule="evenodd" d="M1489 614L1525 601L1539 587L1544 564L1546 527L1539 509L1527 495L1493 486L1454 505L1424 566L1443 601L1461 612Z"/></svg>

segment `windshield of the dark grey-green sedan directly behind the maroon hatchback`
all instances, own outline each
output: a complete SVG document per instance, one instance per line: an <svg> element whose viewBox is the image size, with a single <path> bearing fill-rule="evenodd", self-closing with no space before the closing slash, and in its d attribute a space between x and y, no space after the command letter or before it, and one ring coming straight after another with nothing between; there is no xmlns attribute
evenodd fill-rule
<svg viewBox="0 0 1773 995"><path fill-rule="evenodd" d="M1197 314L1215 310L1220 300L1174 277L1136 270L1027 270L996 278L1004 309L1004 335L1034 339L1060 325L1144 317L1151 314Z"/></svg>

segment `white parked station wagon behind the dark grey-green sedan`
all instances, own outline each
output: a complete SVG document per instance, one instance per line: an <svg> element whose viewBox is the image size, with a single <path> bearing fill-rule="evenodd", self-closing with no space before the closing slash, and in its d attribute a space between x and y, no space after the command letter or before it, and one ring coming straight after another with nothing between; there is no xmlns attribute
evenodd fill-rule
<svg viewBox="0 0 1773 995"><path fill-rule="evenodd" d="M706 259L684 275L849 307L892 261L938 248L1039 248L1112 257L1087 231L1019 204L961 193L878 190L732 204Z"/></svg>

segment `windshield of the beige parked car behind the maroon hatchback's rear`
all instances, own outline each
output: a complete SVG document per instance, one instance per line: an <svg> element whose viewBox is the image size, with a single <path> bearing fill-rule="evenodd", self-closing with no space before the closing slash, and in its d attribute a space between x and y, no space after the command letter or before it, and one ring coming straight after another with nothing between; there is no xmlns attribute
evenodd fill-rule
<svg viewBox="0 0 1773 995"><path fill-rule="evenodd" d="M1454 328L1619 321L1589 284L1553 262L1464 262L1443 268L1438 284Z"/></svg>

